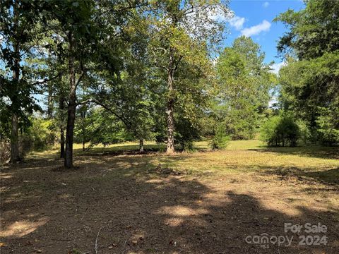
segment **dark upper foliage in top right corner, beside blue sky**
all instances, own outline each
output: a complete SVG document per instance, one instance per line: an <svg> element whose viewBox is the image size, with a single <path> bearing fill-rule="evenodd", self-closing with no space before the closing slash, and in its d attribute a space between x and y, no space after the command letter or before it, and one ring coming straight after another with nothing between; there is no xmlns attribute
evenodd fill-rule
<svg viewBox="0 0 339 254"><path fill-rule="evenodd" d="M278 42L278 50L296 54L300 60L315 59L339 47L339 1L309 0L301 11L288 10L275 21L290 30Z"/></svg>

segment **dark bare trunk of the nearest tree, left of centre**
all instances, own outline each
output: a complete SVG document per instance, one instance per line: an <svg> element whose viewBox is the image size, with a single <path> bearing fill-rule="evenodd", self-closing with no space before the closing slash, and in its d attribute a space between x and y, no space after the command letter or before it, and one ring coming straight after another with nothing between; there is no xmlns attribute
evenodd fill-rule
<svg viewBox="0 0 339 254"><path fill-rule="evenodd" d="M73 53L74 37L69 32L69 108L66 126L66 153L64 167L73 167L73 133L74 122L76 121L76 71L74 68Z"/></svg>

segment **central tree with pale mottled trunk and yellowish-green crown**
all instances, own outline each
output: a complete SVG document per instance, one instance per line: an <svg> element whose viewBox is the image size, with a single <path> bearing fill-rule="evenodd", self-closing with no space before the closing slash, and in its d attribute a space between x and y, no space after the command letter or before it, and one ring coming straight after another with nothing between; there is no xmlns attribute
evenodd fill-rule
<svg viewBox="0 0 339 254"><path fill-rule="evenodd" d="M150 15L150 50L154 54L155 66L165 72L167 83L168 154L174 152L174 105L180 83L175 79L175 74L183 61L195 66L206 63L207 44L215 46L221 39L225 25L215 18L217 15L229 17L227 5L208 0L157 1L155 11Z"/></svg>

